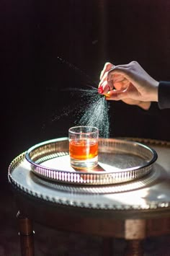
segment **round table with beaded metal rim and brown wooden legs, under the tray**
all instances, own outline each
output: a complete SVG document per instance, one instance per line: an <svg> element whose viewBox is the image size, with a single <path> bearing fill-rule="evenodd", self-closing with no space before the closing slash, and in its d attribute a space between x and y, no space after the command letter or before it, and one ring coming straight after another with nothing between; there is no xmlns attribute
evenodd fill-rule
<svg viewBox="0 0 170 256"><path fill-rule="evenodd" d="M22 256L34 253L33 223L36 221L61 231L94 234L103 237L103 255L114 255L112 239L128 241L125 255L143 255L142 242L147 237L170 234L170 144L140 138L126 138L140 141L155 149L158 159L150 175L130 182L128 190L118 193L78 195L58 190L57 198L48 195L54 187L45 185L27 168L20 180L27 180L27 187L21 185L13 173L23 162L24 154L9 167L9 182L14 191L19 221ZM20 173L20 176L23 173ZM36 183L37 187L32 189ZM20 184L20 185L19 185ZM134 185L139 185L134 187ZM40 194L38 186L41 187ZM37 189L37 192L36 192ZM55 193L56 189L55 189ZM60 198L60 193L62 197ZM65 198L64 198L65 195ZM105 205L97 203L99 198Z"/></svg>

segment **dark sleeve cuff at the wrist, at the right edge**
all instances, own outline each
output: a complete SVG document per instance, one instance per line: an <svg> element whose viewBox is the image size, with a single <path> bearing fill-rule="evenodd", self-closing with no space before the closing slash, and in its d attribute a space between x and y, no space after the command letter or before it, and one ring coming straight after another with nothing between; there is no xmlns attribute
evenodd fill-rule
<svg viewBox="0 0 170 256"><path fill-rule="evenodd" d="M160 110L170 108L170 81L159 81L158 107Z"/></svg>

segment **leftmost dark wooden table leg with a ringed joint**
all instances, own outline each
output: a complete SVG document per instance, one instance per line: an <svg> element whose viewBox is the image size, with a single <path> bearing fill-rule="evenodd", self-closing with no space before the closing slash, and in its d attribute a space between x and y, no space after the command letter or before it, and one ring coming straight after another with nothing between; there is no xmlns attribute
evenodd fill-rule
<svg viewBox="0 0 170 256"><path fill-rule="evenodd" d="M21 244L22 256L34 256L34 231L32 229L32 221L27 217L17 213L17 219L19 221L19 236Z"/></svg>

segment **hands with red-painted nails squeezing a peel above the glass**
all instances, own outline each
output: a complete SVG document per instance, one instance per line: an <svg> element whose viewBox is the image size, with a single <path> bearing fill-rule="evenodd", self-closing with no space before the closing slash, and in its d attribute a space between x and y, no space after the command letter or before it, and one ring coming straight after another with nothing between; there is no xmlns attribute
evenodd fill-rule
<svg viewBox="0 0 170 256"><path fill-rule="evenodd" d="M105 63L100 79L98 91L106 100L122 100L146 110L152 101L158 101L158 81L136 61L118 66Z"/></svg>

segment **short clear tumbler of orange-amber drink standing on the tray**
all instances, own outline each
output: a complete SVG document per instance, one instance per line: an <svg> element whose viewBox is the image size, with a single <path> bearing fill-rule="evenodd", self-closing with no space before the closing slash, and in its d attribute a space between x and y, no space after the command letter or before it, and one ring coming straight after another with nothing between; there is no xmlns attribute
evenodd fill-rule
<svg viewBox="0 0 170 256"><path fill-rule="evenodd" d="M99 129L93 126L75 126L68 130L71 166L78 169L98 164Z"/></svg>

